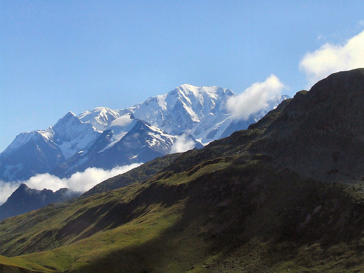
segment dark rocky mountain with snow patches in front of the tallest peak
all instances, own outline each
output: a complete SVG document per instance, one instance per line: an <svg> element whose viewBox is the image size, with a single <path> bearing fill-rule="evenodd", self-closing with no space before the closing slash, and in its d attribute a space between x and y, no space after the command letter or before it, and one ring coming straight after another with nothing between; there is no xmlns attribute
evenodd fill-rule
<svg viewBox="0 0 364 273"><path fill-rule="evenodd" d="M123 124L116 126L120 123ZM148 162L171 153L179 139L183 139L184 142L189 141L190 149L203 147L192 136L168 135L147 121L133 119L131 114L125 114L115 119L89 149L75 154L57 166L53 173L64 176L83 171L88 167L111 169L116 166Z"/></svg>

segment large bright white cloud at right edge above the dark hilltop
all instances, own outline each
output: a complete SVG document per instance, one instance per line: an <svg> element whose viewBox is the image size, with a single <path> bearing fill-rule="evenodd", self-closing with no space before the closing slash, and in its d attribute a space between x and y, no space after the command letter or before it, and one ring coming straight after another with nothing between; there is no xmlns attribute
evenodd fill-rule
<svg viewBox="0 0 364 273"><path fill-rule="evenodd" d="M364 67L364 31L347 40L343 46L326 43L308 52L299 63L307 75L308 88L338 71Z"/></svg>

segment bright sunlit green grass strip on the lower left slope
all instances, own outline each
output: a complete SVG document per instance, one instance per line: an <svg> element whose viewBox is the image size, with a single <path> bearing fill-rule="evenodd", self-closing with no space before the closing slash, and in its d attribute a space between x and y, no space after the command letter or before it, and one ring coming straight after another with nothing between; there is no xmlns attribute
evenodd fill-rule
<svg viewBox="0 0 364 273"><path fill-rule="evenodd" d="M32 261L57 271L66 269L78 271L90 263L93 264L92 267L95 267L98 260L105 259L114 251L124 249L127 253L128 248L148 243L161 236L161 233L177 218L177 207L150 206L148 213L125 225L100 232L52 251L22 256L22 260Z"/></svg>

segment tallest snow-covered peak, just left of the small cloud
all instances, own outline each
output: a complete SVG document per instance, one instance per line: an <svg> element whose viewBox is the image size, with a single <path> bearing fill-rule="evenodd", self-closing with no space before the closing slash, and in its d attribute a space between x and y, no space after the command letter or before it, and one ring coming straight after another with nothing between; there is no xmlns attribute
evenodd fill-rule
<svg viewBox="0 0 364 273"><path fill-rule="evenodd" d="M224 105L233 95L230 89L219 86L185 84L120 112L132 113L136 119L146 120L168 134L176 135L191 130L194 124L211 114L227 114Z"/></svg>

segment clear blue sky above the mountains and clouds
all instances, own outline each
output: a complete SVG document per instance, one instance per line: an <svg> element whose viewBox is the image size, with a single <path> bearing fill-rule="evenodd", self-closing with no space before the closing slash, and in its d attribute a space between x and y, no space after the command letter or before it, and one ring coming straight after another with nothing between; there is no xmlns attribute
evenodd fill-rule
<svg viewBox="0 0 364 273"><path fill-rule="evenodd" d="M306 52L364 29L351 1L0 1L0 152L67 111L121 109L178 85L306 87Z"/></svg>

